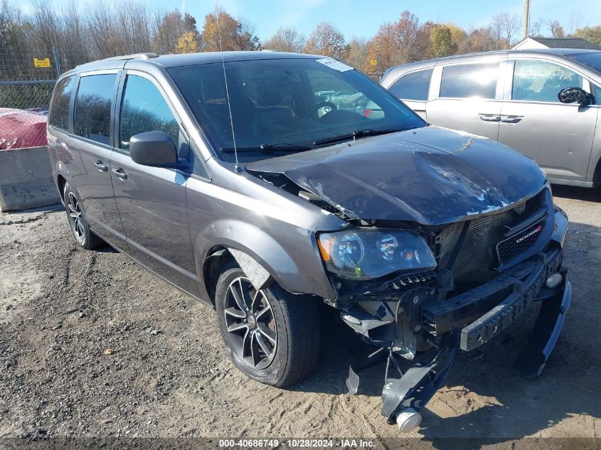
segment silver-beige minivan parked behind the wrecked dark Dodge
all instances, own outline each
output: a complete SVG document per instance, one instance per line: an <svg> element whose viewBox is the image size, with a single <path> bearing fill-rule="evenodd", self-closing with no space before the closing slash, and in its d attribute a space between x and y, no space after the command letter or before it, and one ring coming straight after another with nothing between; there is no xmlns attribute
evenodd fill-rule
<svg viewBox="0 0 601 450"><path fill-rule="evenodd" d="M601 51L509 50L424 60L388 69L381 85L431 124L521 151L553 183L601 183Z"/></svg>

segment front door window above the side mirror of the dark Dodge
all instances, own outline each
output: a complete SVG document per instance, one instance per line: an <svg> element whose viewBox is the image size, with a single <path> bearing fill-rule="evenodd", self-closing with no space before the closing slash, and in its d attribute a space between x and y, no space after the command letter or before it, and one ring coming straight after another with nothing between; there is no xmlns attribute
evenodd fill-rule
<svg viewBox="0 0 601 450"><path fill-rule="evenodd" d="M121 104L119 147L129 149L129 139L138 133L165 132L179 148L179 124L153 82L127 75Z"/></svg>

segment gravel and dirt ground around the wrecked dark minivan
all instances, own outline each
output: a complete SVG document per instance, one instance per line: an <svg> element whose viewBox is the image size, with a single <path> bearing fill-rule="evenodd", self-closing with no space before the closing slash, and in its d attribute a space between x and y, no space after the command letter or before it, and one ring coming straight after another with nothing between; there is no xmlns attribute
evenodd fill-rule
<svg viewBox="0 0 601 450"><path fill-rule="evenodd" d="M574 294L546 372L512 368L531 311L483 358L458 358L412 435L601 436L601 192L555 195ZM379 414L382 367L344 395L357 348L332 328L308 380L260 385L226 358L211 309L110 247L78 250L62 210L0 215L0 437L401 436Z"/></svg>

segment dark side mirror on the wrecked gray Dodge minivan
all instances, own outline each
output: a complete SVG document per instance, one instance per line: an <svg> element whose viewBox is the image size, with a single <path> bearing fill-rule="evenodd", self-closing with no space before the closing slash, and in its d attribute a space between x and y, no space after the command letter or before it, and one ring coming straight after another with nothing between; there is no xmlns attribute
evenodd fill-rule
<svg viewBox="0 0 601 450"><path fill-rule="evenodd" d="M145 132L129 139L129 155L145 166L177 166L179 158L175 142L165 132Z"/></svg>

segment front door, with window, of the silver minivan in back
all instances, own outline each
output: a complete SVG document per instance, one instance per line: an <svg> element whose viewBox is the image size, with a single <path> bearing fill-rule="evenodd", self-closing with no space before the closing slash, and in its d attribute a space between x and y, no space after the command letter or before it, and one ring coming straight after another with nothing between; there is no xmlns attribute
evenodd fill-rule
<svg viewBox="0 0 601 450"><path fill-rule="evenodd" d="M588 89L584 77L548 60L516 59L501 107L499 142L530 156L549 178L585 181L597 123L596 107L558 100L565 87Z"/></svg>

